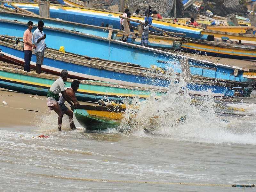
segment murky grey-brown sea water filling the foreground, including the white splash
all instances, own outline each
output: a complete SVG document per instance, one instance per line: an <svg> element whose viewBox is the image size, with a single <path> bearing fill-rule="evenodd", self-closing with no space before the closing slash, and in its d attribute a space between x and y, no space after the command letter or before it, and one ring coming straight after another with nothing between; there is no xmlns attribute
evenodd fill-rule
<svg viewBox="0 0 256 192"><path fill-rule="evenodd" d="M0 190L251 190L231 185L256 183L256 105L198 101L184 84L171 84L158 99L126 100L137 107L127 108L116 129L88 132L76 122L70 131L64 116L59 133L55 113L24 132L1 128Z"/></svg>

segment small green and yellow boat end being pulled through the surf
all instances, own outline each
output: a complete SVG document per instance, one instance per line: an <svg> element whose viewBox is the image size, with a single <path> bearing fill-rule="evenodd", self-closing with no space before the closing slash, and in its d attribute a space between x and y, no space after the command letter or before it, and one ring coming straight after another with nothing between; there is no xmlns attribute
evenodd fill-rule
<svg viewBox="0 0 256 192"><path fill-rule="evenodd" d="M101 106L90 103L72 108L77 121L87 130L104 130L115 128L123 118L125 108L115 106Z"/></svg>

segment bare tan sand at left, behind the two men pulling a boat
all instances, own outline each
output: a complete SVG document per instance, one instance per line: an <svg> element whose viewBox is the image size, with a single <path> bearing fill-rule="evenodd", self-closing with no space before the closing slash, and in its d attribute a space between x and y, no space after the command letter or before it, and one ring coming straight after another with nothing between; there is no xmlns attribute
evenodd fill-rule
<svg viewBox="0 0 256 192"><path fill-rule="evenodd" d="M7 104L3 104L3 101ZM28 131L36 129L57 132L57 114L46 105L45 96L13 92L0 88L0 128ZM84 104L84 102L80 102ZM67 103L66 103L67 104ZM68 108L69 106L66 105ZM76 126L81 126L74 118ZM69 129L68 116L63 116L63 128ZM56 128L56 130L55 130Z"/></svg>

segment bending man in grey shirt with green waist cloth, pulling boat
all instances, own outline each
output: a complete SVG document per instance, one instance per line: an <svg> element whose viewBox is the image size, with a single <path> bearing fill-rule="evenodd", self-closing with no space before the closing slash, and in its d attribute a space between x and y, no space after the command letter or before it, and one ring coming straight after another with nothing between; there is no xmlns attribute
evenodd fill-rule
<svg viewBox="0 0 256 192"><path fill-rule="evenodd" d="M63 112L60 108L59 103L59 93L61 92L64 99L70 104L77 106L79 103L76 100L73 100L66 92L64 81L68 79L68 71L67 69L63 69L60 74L60 78L53 82L52 86L50 87L46 99L47 99L47 106L50 110L54 110L58 114L58 129L61 131L61 123ZM73 103L72 103L72 102Z"/></svg>

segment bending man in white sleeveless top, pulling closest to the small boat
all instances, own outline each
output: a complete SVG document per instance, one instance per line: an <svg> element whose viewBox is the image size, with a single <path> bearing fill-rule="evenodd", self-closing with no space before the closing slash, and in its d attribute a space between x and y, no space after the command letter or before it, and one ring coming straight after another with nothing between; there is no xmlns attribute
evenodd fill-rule
<svg viewBox="0 0 256 192"><path fill-rule="evenodd" d="M67 94L69 95L69 97L73 100L73 101L76 101L77 102L77 99L76 99L76 91L78 90L79 88L79 85L80 85L80 81L78 80L74 80L72 83L71 83L71 87L67 87L66 88L66 92ZM73 130L73 129L76 129L76 126L74 124L74 114L73 112L68 109L65 105L65 98L62 96L62 93L60 92L59 93L59 96L60 96L60 99L58 100L58 103L60 105L60 108L62 110L62 112L64 114L66 114L68 117L69 117L69 123L70 123L70 128ZM78 102L77 102L78 103Z"/></svg>

